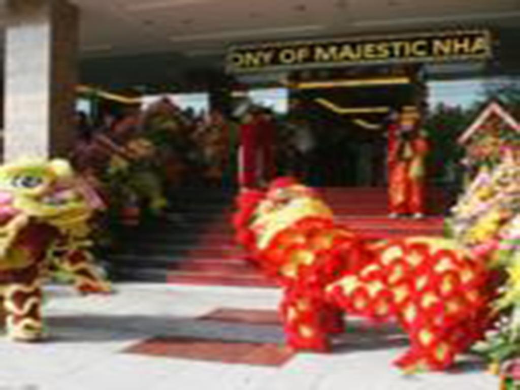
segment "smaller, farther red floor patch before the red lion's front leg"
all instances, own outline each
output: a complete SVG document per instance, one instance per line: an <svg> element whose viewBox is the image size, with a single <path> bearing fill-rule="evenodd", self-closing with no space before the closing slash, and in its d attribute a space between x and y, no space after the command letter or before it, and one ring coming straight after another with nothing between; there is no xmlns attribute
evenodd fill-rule
<svg viewBox="0 0 520 390"><path fill-rule="evenodd" d="M276 310L249 310L221 307L202 317L200 320L248 323L255 325L280 325L280 317Z"/></svg>

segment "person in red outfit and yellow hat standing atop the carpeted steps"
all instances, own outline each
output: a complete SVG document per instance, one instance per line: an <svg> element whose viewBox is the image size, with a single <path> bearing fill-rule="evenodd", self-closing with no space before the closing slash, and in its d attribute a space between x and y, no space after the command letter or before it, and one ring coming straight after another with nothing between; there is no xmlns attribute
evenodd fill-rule
<svg viewBox="0 0 520 390"><path fill-rule="evenodd" d="M419 112L408 108L388 128L389 217L422 218L425 214L425 157L429 147L419 125Z"/></svg>

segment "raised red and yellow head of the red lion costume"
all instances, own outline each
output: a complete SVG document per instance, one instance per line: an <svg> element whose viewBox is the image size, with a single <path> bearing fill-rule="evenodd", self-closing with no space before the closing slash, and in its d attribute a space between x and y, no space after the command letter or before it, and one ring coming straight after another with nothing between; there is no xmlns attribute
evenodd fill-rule
<svg viewBox="0 0 520 390"><path fill-rule="evenodd" d="M361 258L350 229L334 223L319 194L292 177L278 178L264 191L244 190L237 209L237 241L267 275L284 284L324 283Z"/></svg>

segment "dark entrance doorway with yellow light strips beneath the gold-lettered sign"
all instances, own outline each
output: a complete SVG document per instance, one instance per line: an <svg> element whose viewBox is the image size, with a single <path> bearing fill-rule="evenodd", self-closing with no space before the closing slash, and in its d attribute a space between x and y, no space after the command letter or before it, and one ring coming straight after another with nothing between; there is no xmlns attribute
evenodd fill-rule
<svg viewBox="0 0 520 390"><path fill-rule="evenodd" d="M422 110L421 67L364 66L294 72L291 77L288 118L294 120L296 139L298 132L311 137L300 163L305 182L384 186L387 127L405 107Z"/></svg>

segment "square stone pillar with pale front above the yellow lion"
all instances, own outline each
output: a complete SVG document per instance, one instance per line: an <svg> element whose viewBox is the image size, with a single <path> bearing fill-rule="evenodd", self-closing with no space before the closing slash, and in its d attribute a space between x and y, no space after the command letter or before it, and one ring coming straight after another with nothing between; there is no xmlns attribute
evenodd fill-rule
<svg viewBox="0 0 520 390"><path fill-rule="evenodd" d="M79 18L66 0L7 0L4 160L66 156L74 137Z"/></svg>

